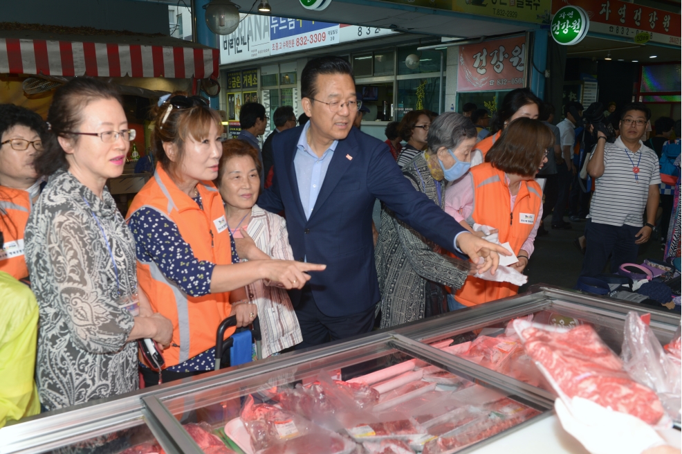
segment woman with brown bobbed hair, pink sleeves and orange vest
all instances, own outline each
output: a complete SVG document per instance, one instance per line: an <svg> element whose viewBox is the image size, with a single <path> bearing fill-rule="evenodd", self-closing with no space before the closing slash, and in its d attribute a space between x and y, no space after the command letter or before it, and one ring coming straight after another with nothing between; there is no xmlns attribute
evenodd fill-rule
<svg viewBox="0 0 682 454"><path fill-rule="evenodd" d="M522 273L533 253L542 219L542 189L535 175L547 162L555 136L538 120L519 118L502 131L486 162L448 188L445 212L474 235L472 226L492 228L500 244L509 243L519 261L511 267ZM499 271L498 271L499 273ZM480 305L513 296L519 288L509 282L492 282L470 275L451 301L451 309Z"/></svg>

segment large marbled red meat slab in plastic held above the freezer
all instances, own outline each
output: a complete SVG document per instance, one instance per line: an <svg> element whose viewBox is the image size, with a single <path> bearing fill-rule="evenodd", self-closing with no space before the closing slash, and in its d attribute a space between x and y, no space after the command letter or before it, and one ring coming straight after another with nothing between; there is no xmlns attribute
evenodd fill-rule
<svg viewBox="0 0 682 454"><path fill-rule="evenodd" d="M515 325L521 329L526 352L566 400L584 397L652 425L663 416L656 393L629 378L623 362L591 326L580 325L567 332L544 325L523 326Z"/></svg>

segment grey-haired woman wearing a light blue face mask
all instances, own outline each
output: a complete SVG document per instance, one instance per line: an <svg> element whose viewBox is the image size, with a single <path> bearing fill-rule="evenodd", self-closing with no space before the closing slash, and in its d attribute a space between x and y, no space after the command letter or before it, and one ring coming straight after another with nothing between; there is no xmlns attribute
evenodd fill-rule
<svg viewBox="0 0 682 454"><path fill-rule="evenodd" d="M427 151L405 163L403 174L415 190L443 209L445 183L466 174L474 143L476 128L468 118L454 112L442 114L429 129ZM443 287L459 289L469 272L468 262L441 254L438 246L387 209L381 212L374 256L382 328L446 312Z"/></svg>

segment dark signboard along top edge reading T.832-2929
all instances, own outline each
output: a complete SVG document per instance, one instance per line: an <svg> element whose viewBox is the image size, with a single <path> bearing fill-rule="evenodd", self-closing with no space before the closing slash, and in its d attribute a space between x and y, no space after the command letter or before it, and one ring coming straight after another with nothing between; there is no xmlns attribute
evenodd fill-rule
<svg viewBox="0 0 682 454"><path fill-rule="evenodd" d="M552 0L382 0L430 10L463 12L513 21L548 24ZM556 1L556 0L555 0ZM557 8L558 9L558 8Z"/></svg>

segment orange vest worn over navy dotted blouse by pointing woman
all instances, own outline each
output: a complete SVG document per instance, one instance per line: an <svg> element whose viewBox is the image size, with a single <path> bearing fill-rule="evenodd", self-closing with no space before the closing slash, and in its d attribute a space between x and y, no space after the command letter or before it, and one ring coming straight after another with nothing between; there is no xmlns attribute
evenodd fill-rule
<svg viewBox="0 0 682 454"><path fill-rule="evenodd" d="M203 210L157 164L154 178L135 196L126 219L140 208L156 210L178 226L197 260L231 264L230 232L220 193L210 181L201 181L196 188ZM216 345L218 325L232 311L230 292L188 296L155 262L143 262L139 257L138 282L154 312L173 323L172 345L163 351L165 367L184 363ZM234 327L225 332L225 338L233 333Z"/></svg>

